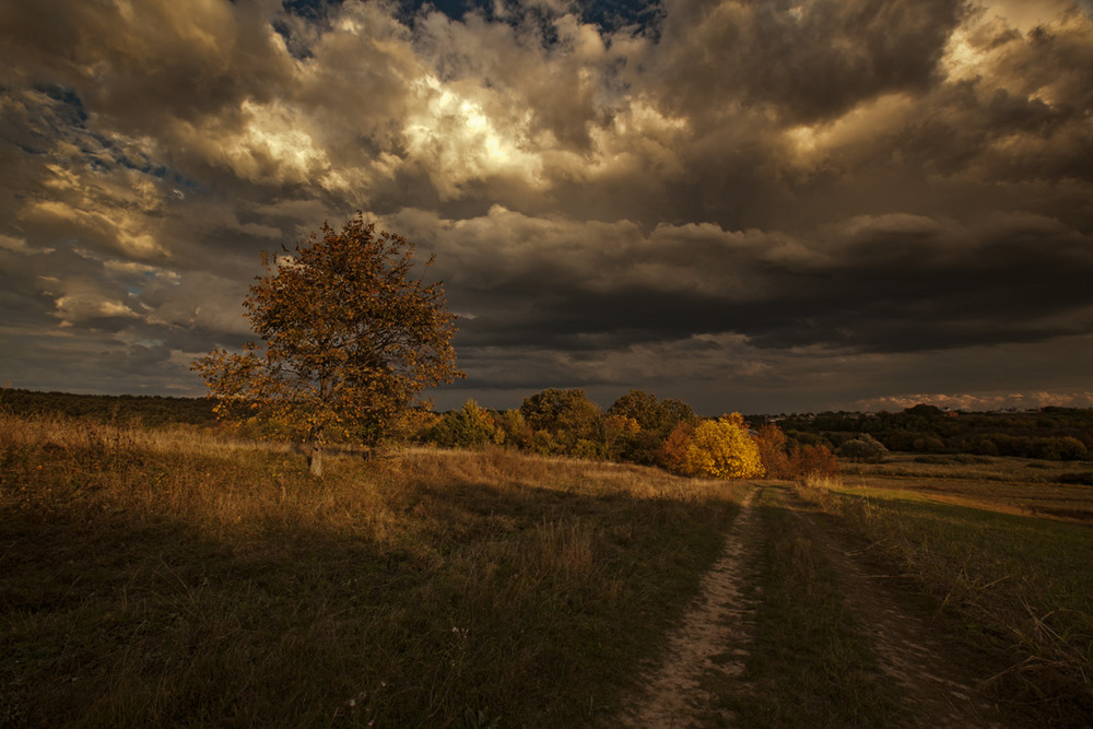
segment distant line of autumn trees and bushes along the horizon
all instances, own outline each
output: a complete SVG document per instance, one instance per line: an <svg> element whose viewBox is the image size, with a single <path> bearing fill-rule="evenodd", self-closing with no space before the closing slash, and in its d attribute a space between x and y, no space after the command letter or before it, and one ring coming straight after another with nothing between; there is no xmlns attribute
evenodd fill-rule
<svg viewBox="0 0 1093 729"><path fill-rule="evenodd" d="M209 398L0 390L0 411L17 415L143 425L212 425L213 405ZM260 418L234 427L254 437L284 435ZM788 479L837 474L836 455L853 461L880 460L891 451L1084 460L1093 452L1093 410L952 413L920 404L897 413L732 413L712 419L682 400L661 400L642 390L626 392L603 411L581 389L548 388L512 410L487 410L473 400L445 413L416 410L391 437L657 466L712 478ZM356 436L345 431L338 440L352 445Z"/></svg>

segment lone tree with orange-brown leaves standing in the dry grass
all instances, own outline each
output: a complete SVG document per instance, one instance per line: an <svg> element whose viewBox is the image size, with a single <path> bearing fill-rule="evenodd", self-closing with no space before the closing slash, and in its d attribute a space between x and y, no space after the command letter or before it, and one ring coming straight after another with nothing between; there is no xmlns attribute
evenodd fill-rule
<svg viewBox="0 0 1093 729"><path fill-rule="evenodd" d="M219 400L218 415L260 414L309 450L337 434L376 445L422 389L450 383L456 316L439 282L425 284L414 246L376 232L361 214L340 232L322 224L293 250L262 254L265 275L244 299L261 342L242 353L213 349L192 368ZM424 268L433 263L430 258Z"/></svg>

